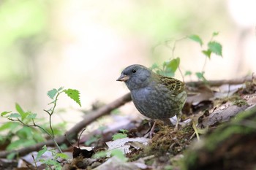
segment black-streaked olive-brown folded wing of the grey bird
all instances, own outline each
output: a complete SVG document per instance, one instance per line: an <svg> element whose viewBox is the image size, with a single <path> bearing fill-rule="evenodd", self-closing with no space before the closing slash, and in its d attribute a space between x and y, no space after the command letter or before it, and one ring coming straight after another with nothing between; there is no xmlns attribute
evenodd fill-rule
<svg viewBox="0 0 256 170"><path fill-rule="evenodd" d="M185 89L184 82L181 82L180 80L173 79L171 77L165 77L160 76L159 83L162 85L165 85L167 89L170 90L173 95L178 95L178 93L181 93Z"/></svg>

